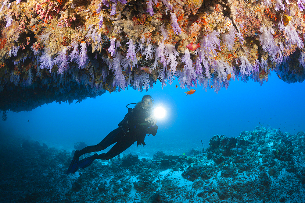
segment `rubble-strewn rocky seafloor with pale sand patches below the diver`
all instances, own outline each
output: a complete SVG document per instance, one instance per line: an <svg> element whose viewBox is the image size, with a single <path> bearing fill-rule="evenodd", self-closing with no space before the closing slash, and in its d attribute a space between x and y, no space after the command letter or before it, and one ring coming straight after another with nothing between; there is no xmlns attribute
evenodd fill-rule
<svg viewBox="0 0 305 203"><path fill-rule="evenodd" d="M305 202L304 135L257 127L189 156L124 154L73 175L71 152L2 135L0 202Z"/></svg>

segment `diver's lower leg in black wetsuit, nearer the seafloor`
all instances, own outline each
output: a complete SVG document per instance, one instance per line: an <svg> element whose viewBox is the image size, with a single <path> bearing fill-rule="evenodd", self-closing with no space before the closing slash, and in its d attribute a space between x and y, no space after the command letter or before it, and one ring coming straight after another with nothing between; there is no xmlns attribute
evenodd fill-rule
<svg viewBox="0 0 305 203"><path fill-rule="evenodd" d="M117 141L107 153L99 154L94 156L94 159L112 159L113 157L119 155L120 153L124 152L128 147L130 147L133 143L135 143L134 139L127 138L127 136L120 135L120 140Z"/></svg>

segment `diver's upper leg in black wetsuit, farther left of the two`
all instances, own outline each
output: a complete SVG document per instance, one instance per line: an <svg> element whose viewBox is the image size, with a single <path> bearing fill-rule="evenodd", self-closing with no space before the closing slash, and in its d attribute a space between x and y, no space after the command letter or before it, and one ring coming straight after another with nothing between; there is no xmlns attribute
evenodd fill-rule
<svg viewBox="0 0 305 203"><path fill-rule="evenodd" d="M117 135L123 134L123 131L121 131L121 128L114 129L111 131L106 137L97 145L87 146L84 149L80 151L75 151L77 153L77 156L80 157L83 154L90 153L90 152L99 152L103 149L106 149L113 143L117 142Z"/></svg>

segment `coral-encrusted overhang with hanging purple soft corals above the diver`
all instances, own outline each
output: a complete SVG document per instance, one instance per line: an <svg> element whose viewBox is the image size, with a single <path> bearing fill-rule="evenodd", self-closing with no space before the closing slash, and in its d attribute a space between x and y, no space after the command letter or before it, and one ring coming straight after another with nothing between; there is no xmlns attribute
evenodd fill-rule
<svg viewBox="0 0 305 203"><path fill-rule="evenodd" d="M1 1L0 110L159 80L216 93L271 71L303 82L304 0ZM186 48L190 43L199 48ZM148 66L149 74L138 67ZM231 73L231 80L227 75ZM31 105L31 107L30 107Z"/></svg>

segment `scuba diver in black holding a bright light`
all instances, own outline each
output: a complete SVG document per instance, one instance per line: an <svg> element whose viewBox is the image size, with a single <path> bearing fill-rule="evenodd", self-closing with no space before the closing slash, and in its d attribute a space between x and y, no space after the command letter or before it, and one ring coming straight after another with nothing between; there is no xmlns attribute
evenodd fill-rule
<svg viewBox="0 0 305 203"><path fill-rule="evenodd" d="M79 167L82 169L86 168L95 159L112 159L124 152L128 147L135 143L135 141L137 141L137 145L145 146L145 137L150 134L155 136L158 129L156 118L152 115L153 103L154 100L152 97L150 95L145 95L141 102L136 103L135 108L128 108L128 104L126 106L128 108L128 113L125 115L123 121L118 124L119 127L117 129L111 131L99 144L87 146L80 151L76 150L74 152L73 160L66 174L75 173ZM94 154L78 161L81 155L90 152L99 152L114 143L116 144L109 150L109 152Z"/></svg>

